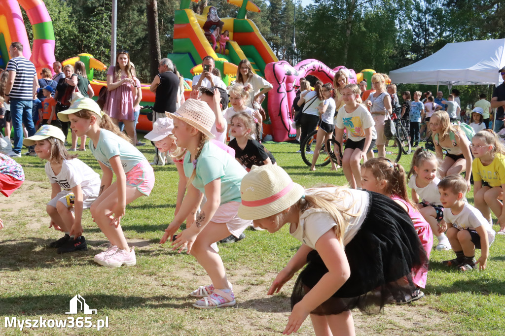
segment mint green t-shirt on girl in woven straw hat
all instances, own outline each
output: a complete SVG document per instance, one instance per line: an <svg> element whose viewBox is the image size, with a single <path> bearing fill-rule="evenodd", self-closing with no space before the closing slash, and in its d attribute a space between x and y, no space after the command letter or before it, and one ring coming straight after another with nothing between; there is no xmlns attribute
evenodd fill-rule
<svg viewBox="0 0 505 336"><path fill-rule="evenodd" d="M187 178L193 173L193 163L191 153L186 152L184 156L184 175ZM207 141L201 150L196 162L196 176L192 185L200 192L205 193L205 185L221 179L221 203L231 201L240 202L240 182L245 169L230 154L219 148L215 144Z"/></svg>

